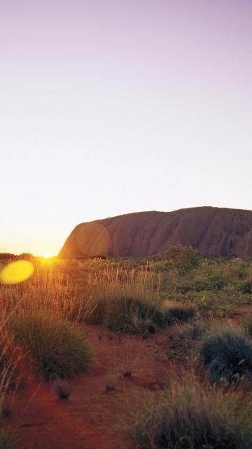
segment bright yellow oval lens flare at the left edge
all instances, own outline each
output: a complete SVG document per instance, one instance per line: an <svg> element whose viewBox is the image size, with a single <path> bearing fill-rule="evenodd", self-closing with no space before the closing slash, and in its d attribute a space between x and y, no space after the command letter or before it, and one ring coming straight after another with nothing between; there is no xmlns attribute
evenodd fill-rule
<svg viewBox="0 0 252 449"><path fill-rule="evenodd" d="M20 283L29 279L34 272L34 265L28 260L16 260L0 272L1 283Z"/></svg>

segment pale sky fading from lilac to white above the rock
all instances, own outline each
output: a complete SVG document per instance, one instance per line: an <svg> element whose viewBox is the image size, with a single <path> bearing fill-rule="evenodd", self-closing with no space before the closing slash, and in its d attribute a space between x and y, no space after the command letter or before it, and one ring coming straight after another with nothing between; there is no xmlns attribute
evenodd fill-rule
<svg viewBox="0 0 252 449"><path fill-rule="evenodd" d="M141 210L252 210L251 0L0 0L0 252Z"/></svg>

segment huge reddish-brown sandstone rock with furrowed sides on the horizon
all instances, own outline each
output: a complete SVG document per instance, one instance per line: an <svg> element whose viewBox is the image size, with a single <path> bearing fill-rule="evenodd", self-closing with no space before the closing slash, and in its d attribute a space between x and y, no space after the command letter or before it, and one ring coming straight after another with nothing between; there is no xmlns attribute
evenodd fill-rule
<svg viewBox="0 0 252 449"><path fill-rule="evenodd" d="M174 212L138 212L81 223L59 257L145 257L169 246L191 245L206 257L252 258L252 211L188 208Z"/></svg>

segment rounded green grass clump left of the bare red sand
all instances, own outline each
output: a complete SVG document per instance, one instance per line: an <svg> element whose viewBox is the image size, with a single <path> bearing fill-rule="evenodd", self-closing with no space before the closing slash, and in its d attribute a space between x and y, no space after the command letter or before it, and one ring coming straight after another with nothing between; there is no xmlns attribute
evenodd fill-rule
<svg viewBox="0 0 252 449"><path fill-rule="evenodd" d="M6 324L43 373L45 380L72 377L85 370L92 352L73 324L46 311L19 311Z"/></svg>

